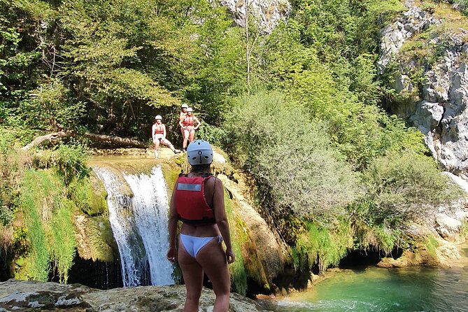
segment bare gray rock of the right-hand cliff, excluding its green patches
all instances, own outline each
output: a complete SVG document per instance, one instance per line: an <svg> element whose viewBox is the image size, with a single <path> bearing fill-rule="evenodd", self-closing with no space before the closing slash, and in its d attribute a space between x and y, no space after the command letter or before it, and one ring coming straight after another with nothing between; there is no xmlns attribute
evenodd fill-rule
<svg viewBox="0 0 468 312"><path fill-rule="evenodd" d="M409 9L404 16L383 30L378 65L384 72L390 62L397 62L395 90L399 94L418 94L416 101L406 103L411 107L402 117L423 132L434 158L446 171L462 178L456 182L468 190L468 43L464 42L468 31L437 31L441 20L411 1L406 1L406 6ZM421 58L402 58L399 54L404 43L431 26L436 31L430 33L427 46L437 47L428 52L434 62L421 65ZM409 78L416 71L422 71L420 83Z"/></svg>

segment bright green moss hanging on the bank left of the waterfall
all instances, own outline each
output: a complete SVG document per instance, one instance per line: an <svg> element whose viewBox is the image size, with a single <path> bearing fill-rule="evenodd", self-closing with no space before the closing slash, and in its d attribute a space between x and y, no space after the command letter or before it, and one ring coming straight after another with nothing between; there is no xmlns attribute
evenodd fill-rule
<svg viewBox="0 0 468 312"><path fill-rule="evenodd" d="M26 171L20 210L24 215L27 255L16 278L47 281L52 263L59 280L66 282L76 248L72 222L75 209L75 204L66 198L62 180L53 171Z"/></svg>

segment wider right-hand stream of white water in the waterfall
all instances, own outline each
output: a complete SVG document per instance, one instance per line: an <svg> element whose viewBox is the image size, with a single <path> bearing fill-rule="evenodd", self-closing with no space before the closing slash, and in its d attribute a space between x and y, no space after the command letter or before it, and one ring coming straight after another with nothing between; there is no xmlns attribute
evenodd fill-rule
<svg viewBox="0 0 468 312"><path fill-rule="evenodd" d="M143 240L150 264L152 285L173 284L172 265L166 258L169 248L167 232L167 192L161 167L153 167L151 176L124 176L134 192L133 207L136 229Z"/></svg>

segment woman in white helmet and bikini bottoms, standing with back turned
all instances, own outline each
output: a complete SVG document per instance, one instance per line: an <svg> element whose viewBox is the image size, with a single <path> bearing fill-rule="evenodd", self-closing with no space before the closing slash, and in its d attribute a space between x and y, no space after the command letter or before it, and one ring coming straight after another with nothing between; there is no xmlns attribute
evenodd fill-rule
<svg viewBox="0 0 468 312"><path fill-rule="evenodd" d="M216 295L213 312L226 312L230 287L227 264L234 262L235 255L229 236L224 188L222 182L211 175L213 150L208 142L190 143L187 159L192 170L178 177L172 193L167 258L178 262L182 269L187 290L185 312L199 311L204 273ZM176 250L178 220L183 225ZM226 251L222 248L223 239Z"/></svg>

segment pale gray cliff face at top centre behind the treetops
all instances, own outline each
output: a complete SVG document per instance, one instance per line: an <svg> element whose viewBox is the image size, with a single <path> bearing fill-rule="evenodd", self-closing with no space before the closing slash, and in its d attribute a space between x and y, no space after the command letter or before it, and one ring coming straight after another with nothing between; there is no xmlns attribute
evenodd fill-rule
<svg viewBox="0 0 468 312"><path fill-rule="evenodd" d="M267 34L276 27L278 21L288 17L291 4L288 0L220 0L232 13L237 25L246 25L246 4L250 15L257 20L260 30Z"/></svg>

